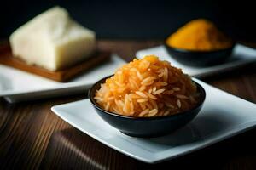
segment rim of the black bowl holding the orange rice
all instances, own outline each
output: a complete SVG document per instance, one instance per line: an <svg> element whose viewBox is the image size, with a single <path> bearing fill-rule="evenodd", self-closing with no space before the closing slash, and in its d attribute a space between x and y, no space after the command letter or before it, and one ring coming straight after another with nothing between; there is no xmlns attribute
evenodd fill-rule
<svg viewBox="0 0 256 170"><path fill-rule="evenodd" d="M182 116L182 115L185 115L185 114L188 114L190 111L194 111L196 109L198 109L199 107L201 107L201 105L204 104L205 102L205 99L206 99L206 91L205 89L198 83L198 82L195 82L194 80L192 80L192 82L194 82L196 84L196 88L199 88L200 91L201 91L201 99L199 101L199 103L197 105L195 105L194 107L192 107L189 111L182 111L182 112L179 112L178 114L175 114L175 115L168 115L168 116L150 116L150 117L139 117L139 116L125 116L125 115L120 115L118 113L113 113L111 111L106 111L104 109L102 109L102 107L100 107L97 103L96 103L96 100L93 99L94 97L94 94L91 94L91 91L92 89L99 83L101 83L102 81L106 80L107 78L109 77L112 77L113 75L111 76L108 76L108 77L103 77L102 79L98 80L97 82L95 82L89 89L89 93L88 93L88 97L90 99L90 103L96 107L96 109L106 113L106 114L109 114L111 116L116 116L116 117L119 117L119 118L125 118L125 119L131 119L131 120L137 120L137 121L145 121L145 120L160 120L160 119L167 119L167 118L171 118L171 117L177 117L177 116Z"/></svg>

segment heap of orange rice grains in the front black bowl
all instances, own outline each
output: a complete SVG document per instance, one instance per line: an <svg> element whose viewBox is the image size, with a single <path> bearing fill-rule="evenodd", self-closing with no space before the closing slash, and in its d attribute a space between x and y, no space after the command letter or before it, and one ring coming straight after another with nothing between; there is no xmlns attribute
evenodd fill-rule
<svg viewBox="0 0 256 170"><path fill-rule="evenodd" d="M167 116L197 103L195 83L181 69L154 55L133 59L101 84L96 102L125 116Z"/></svg>

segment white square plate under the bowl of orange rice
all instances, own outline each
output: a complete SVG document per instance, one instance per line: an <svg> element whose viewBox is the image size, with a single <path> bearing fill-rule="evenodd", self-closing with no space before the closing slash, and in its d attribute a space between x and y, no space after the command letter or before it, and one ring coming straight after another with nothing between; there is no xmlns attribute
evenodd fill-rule
<svg viewBox="0 0 256 170"><path fill-rule="evenodd" d="M175 133L153 138L132 138L104 122L89 99L56 105L52 111L92 138L127 156L148 163L170 160L241 133L256 124L256 105L199 82L207 93L201 112Z"/></svg>

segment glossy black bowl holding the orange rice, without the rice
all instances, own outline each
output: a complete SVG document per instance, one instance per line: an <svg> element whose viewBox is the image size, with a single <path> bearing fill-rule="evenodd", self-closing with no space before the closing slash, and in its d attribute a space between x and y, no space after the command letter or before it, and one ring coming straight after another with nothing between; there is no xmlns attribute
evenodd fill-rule
<svg viewBox="0 0 256 170"><path fill-rule="evenodd" d="M172 133L180 127L190 122L201 110L201 106L206 98L206 92L200 84L195 82L198 92L201 94L198 105L195 105L189 111L183 111L172 116L154 116L154 117L134 117L122 116L110 111L103 110L94 99L96 90L101 88L101 84L106 78L96 82L89 91L90 103L96 109L96 112L105 122L119 129L121 133L125 133L133 137L152 138Z"/></svg>

